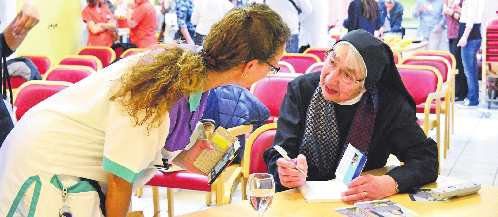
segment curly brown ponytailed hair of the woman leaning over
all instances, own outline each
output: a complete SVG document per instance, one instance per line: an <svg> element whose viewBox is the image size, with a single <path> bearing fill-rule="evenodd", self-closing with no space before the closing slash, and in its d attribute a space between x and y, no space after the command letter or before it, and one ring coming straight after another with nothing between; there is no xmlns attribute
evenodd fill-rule
<svg viewBox="0 0 498 217"><path fill-rule="evenodd" d="M269 60L289 37L287 24L266 4L242 5L213 24L206 36L204 51L216 61L214 68L208 70L188 49L160 44L133 60L110 101L119 102L135 125L147 124L149 130L161 124L175 102L203 87L209 73L221 76L250 60Z"/></svg>

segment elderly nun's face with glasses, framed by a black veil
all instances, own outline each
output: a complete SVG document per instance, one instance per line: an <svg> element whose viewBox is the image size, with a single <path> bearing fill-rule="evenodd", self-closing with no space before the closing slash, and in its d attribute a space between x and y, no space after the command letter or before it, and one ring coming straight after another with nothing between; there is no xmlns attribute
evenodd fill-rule
<svg viewBox="0 0 498 217"><path fill-rule="evenodd" d="M327 56L327 59L325 59L325 66L322 68L322 73L320 75L323 97L334 103L344 103L358 97L360 93L365 93L366 91L362 87L364 81L357 83L346 82L347 76L350 75L355 78L354 80L364 79L361 73L357 73L353 70L357 67L348 66L341 61L345 59L348 52L349 49L345 48L345 46L339 46L331 51Z"/></svg>

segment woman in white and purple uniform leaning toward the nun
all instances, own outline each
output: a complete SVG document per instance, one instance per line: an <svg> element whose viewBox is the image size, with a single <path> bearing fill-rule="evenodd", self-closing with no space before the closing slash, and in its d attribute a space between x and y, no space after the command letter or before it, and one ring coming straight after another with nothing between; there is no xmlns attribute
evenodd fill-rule
<svg viewBox="0 0 498 217"><path fill-rule="evenodd" d="M281 17L265 4L243 5L213 25L204 47L161 45L36 105L0 149L0 216L11 216L9 210L20 200L22 215L31 204L35 217L50 216L65 205L73 216L103 216L102 210L107 217L123 217L131 191L155 174L153 165L162 158L202 174L193 160L212 148L209 141L184 147L204 112L208 90L247 87L266 76L289 35ZM95 192L86 201L71 193L75 185L88 186L82 179L98 181L107 196L104 209ZM21 186L30 186L24 197ZM63 202L54 186L67 187L73 199Z"/></svg>

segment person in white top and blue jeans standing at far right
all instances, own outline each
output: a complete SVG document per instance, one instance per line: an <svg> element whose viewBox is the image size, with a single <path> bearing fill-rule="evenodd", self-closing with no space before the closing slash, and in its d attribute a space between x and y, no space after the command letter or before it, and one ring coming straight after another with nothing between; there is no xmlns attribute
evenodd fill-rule
<svg viewBox="0 0 498 217"><path fill-rule="evenodd" d="M477 51L481 47L481 22L483 20L484 0L464 0L460 14L457 46L461 47L462 63L469 93L459 108L475 108L479 105L479 82L477 78Z"/></svg>

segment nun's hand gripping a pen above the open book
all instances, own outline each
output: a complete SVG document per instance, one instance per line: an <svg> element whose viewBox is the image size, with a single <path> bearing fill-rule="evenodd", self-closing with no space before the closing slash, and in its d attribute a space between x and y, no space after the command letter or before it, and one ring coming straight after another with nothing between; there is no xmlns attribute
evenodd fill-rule
<svg viewBox="0 0 498 217"><path fill-rule="evenodd" d="M298 155L296 158L292 159L297 163L297 167L308 174L308 163L306 162L306 157L302 154ZM278 166L278 178L280 178L280 183L287 188L297 188L304 185L306 182L306 176L304 176L299 170L294 167L294 164L285 160L285 158L280 158L277 160Z"/></svg>

